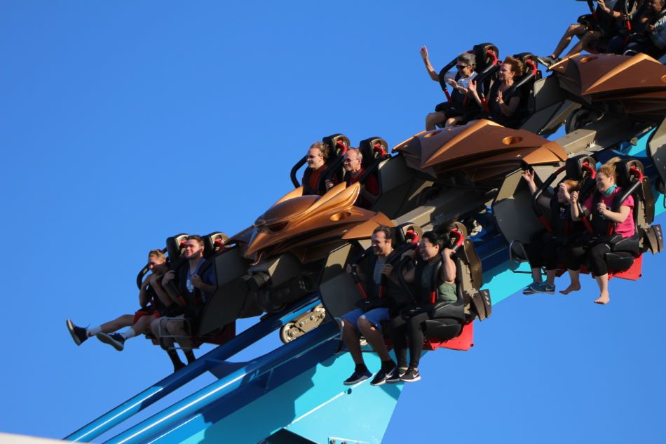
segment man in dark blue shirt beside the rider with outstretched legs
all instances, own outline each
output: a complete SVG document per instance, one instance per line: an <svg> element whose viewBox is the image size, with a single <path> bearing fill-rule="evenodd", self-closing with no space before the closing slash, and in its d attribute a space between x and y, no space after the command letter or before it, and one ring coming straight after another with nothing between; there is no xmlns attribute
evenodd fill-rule
<svg viewBox="0 0 666 444"><path fill-rule="evenodd" d="M173 363L174 371L184 367L185 364L180 361L177 351L174 347L174 340L178 342L180 348L184 351L187 363L196 360L192 351L191 335L193 335L198 326L198 318L201 315L205 303L215 293L217 289L217 276L215 276L215 267L206 267L203 274L199 274L206 260L203 258L204 242L201 236L187 236L184 245L184 257L187 260L179 268L178 276L176 271L168 271L162 284L170 292L173 299L181 299L184 306L184 314L175 318L156 319L151 323L153 334L158 337L160 344L167 350L169 358ZM177 278L177 292L169 283ZM164 322L166 321L166 322Z"/></svg>

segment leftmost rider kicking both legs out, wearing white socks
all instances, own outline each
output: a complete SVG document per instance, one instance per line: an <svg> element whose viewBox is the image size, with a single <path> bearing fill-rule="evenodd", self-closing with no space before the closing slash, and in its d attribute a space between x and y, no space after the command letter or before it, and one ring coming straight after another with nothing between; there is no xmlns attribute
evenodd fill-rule
<svg viewBox="0 0 666 444"><path fill-rule="evenodd" d="M148 253L148 269L151 271L151 274L143 281L139 291L141 309L135 314L123 314L113 321L97 325L93 328L79 327L78 325L74 325L71 319L67 319L67 329L76 345L81 345L89 337L96 336L100 341L110 344L116 350L121 351L125 347L125 340L147 331L151 321L155 317L160 316L158 311L161 311L162 308L161 298L156 296L168 297L165 295L160 284L162 276L168 270L166 257L161 250L150 250ZM112 333L123 327L130 328L121 333ZM112 334L109 335L109 333Z"/></svg>

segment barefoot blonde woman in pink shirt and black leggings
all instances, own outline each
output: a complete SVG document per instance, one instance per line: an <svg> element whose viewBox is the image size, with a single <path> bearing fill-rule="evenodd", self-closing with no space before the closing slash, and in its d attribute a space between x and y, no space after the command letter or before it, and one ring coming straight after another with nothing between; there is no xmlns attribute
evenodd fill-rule
<svg viewBox="0 0 666 444"><path fill-rule="evenodd" d="M562 291L562 294L568 295L572 291L580 290L580 264L587 260L590 264L592 276L599 285L599 297L594 302L597 304L608 304L609 297L609 274L604 256L610 253L612 248L609 243L609 224L613 224L613 234L618 234L623 238L630 238L636 233L634 227L634 198L628 196L620 205L618 212L612 211L613 199L620 192L616 184L617 173L616 163L621 161L619 157L604 163L597 173L597 193L599 196L590 196L583 203L583 217L592 214L592 228L594 233L592 238L583 237L581 242L576 242L567 251L566 267L569 269L571 284L569 288ZM594 202L597 202L596 206ZM573 220L580 220L581 214L578 209L578 191L571 194L571 217ZM594 207L594 208L593 208Z"/></svg>

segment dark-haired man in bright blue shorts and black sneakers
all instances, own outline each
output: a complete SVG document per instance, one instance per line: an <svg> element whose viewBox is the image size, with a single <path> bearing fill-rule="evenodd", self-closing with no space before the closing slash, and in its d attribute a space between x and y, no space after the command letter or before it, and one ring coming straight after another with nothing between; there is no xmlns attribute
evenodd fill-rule
<svg viewBox="0 0 666 444"><path fill-rule="evenodd" d="M363 301L367 304L367 309L352 310L338 319L341 323L342 340L355 363L354 372L346 379L345 385L358 384L372 376L363 361L359 344L360 334L367 339L381 359L381 368L370 384L384 384L387 377L392 377L397 372L381 333L381 322L390 319L390 308L399 306L405 299L397 283L396 271L390 263L395 258L394 255L392 230L390 227L380 225L372 233L372 254L367 258L365 271L351 265L347 266L347 273L356 272L360 280L365 282L368 298ZM382 281L385 283L386 293L383 297L381 297Z"/></svg>

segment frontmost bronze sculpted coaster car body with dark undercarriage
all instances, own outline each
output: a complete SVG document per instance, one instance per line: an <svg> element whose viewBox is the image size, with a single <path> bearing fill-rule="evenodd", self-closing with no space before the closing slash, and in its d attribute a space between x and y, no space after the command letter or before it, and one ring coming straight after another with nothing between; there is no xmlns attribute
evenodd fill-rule
<svg viewBox="0 0 666 444"><path fill-rule="evenodd" d="M324 196L302 196L295 189L259 216L254 225L231 240L243 243L249 292L264 311L314 292L325 257L346 243L344 236L372 234L390 224L388 217L354 206L360 185L337 184ZM351 234L351 232L356 234Z"/></svg>

